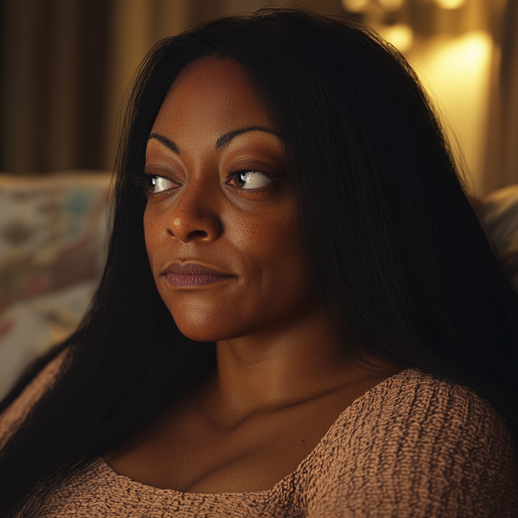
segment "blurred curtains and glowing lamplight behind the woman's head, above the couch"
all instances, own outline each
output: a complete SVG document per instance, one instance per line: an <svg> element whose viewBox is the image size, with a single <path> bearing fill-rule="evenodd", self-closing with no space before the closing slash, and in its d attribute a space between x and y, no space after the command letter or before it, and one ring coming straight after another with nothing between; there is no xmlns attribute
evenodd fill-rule
<svg viewBox="0 0 518 518"><path fill-rule="evenodd" d="M153 44L189 22L266 5L272 4L3 0L0 170L111 170L121 100ZM474 192L518 181L516 0L290 5L362 19L407 56L458 140Z"/></svg>

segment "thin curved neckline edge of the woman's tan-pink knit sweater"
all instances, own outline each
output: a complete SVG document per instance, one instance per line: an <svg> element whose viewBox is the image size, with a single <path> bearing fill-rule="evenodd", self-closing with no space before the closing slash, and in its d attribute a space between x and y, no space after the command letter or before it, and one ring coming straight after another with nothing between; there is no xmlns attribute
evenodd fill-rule
<svg viewBox="0 0 518 518"><path fill-rule="evenodd" d="M366 399L367 397L371 396L373 393L378 392L380 390L383 390L385 386L389 383L393 383L394 381L397 381L400 377L404 376L405 374L408 375L410 371L413 371L412 367L409 367L407 369L401 370L397 372L396 374L389 376L388 378L384 379L382 382L378 383L377 385L373 386L371 389L369 389L365 394L362 396L359 396L356 398L351 405L349 405L343 412L340 413L336 421L330 426L330 428L327 430L325 435L320 439L318 444L309 452L309 454L300 461L298 466L295 468L294 471L291 473L288 473L285 477L283 477L279 482L277 482L273 487L271 487L268 490L264 491L247 491L242 493L195 493L195 492L181 492L174 489L163 489L160 487L154 487L147 484L142 484L141 482L137 482L130 477L126 477L124 475L121 475L117 473L106 461L104 458L99 459L100 463L100 470L106 473L106 475L112 479L112 480L118 480L120 483L126 484L128 487L134 487L139 488L140 490L145 490L148 492L152 492L155 495L170 495L170 496L179 496L179 497L229 497L229 496L267 496L268 494L275 492L277 488L280 488L281 486L285 485L290 479L296 477L297 473L299 473L305 464L311 461L311 459L318 453L319 450L325 447L325 443L327 442L328 438L334 433L335 429L341 424L341 422L347 418L349 413L351 413L358 405L361 405L362 401Z"/></svg>

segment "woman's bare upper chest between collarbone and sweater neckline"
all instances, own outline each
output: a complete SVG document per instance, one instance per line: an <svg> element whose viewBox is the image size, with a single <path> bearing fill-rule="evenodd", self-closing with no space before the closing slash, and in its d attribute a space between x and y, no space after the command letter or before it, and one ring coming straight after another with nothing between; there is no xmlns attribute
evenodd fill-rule
<svg viewBox="0 0 518 518"><path fill-rule="evenodd" d="M352 400L342 395L259 414L230 429L192 413L162 424L108 463L134 481L180 492L266 491L296 470Z"/></svg>

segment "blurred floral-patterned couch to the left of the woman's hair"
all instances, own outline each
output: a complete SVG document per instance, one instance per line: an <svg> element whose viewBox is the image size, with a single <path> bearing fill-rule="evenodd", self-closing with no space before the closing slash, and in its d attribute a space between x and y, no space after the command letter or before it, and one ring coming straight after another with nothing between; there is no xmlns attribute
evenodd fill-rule
<svg viewBox="0 0 518 518"><path fill-rule="evenodd" d="M0 398L79 324L105 262L111 174L0 174Z"/></svg>

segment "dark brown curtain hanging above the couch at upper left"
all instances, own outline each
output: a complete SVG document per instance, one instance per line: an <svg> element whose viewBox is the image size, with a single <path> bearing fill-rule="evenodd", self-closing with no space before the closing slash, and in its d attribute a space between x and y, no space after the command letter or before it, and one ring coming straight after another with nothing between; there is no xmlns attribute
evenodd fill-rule
<svg viewBox="0 0 518 518"><path fill-rule="evenodd" d="M105 0L4 0L0 170L100 166L108 8Z"/></svg>

